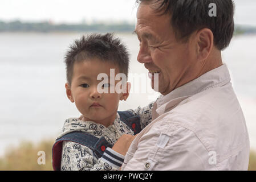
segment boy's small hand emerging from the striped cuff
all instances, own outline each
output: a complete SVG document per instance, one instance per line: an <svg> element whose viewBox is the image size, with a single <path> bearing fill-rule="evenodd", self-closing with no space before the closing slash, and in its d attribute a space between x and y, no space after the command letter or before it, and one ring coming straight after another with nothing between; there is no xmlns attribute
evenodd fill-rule
<svg viewBox="0 0 256 182"><path fill-rule="evenodd" d="M114 146L112 147L112 150L118 152L121 155L125 155L133 139L135 139L136 136L137 135L135 136L127 135L127 134L122 135L119 138L119 140L117 140L117 142L114 144Z"/></svg>

